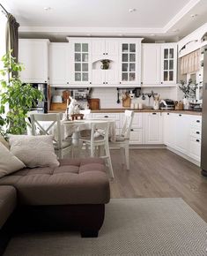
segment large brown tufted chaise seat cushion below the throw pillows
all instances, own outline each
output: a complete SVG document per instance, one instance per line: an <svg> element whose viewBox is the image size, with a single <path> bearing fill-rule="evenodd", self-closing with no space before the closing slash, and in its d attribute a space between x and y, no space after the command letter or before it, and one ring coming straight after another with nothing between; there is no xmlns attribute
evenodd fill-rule
<svg viewBox="0 0 207 256"><path fill-rule="evenodd" d="M110 199L102 159L63 159L55 168L21 169L0 179L12 184L23 205L103 204Z"/></svg>

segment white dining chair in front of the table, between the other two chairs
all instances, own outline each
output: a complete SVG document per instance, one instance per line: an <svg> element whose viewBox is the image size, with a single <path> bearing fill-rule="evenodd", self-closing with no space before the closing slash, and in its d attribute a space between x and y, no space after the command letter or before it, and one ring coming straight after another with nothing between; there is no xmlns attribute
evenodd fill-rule
<svg viewBox="0 0 207 256"><path fill-rule="evenodd" d="M95 122L91 125L91 135L90 137L80 137L80 141L85 144L85 148L90 147L90 156L99 156L100 158L107 160L107 167L110 172L110 177L114 178L114 171L111 163L111 155L108 146L108 131L109 131L109 123L108 122ZM98 148L102 147L102 154L96 155L96 153L100 150Z"/></svg>

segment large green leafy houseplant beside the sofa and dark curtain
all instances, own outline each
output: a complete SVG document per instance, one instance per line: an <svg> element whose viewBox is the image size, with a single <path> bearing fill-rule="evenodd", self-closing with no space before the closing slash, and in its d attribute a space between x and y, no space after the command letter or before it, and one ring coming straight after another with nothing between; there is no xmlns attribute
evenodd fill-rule
<svg viewBox="0 0 207 256"><path fill-rule="evenodd" d="M2 57L3 69L0 70L0 133L23 134L26 132L27 112L42 100L41 91L19 79L19 72L24 68L16 63L11 52ZM8 109L8 110L6 110Z"/></svg>

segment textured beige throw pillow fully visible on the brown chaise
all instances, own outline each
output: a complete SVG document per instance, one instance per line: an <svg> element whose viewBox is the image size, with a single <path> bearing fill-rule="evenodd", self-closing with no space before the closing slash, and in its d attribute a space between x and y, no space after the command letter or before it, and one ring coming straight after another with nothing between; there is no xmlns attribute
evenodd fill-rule
<svg viewBox="0 0 207 256"><path fill-rule="evenodd" d="M25 163L26 167L59 166L53 147L52 135L10 135L11 152Z"/></svg>

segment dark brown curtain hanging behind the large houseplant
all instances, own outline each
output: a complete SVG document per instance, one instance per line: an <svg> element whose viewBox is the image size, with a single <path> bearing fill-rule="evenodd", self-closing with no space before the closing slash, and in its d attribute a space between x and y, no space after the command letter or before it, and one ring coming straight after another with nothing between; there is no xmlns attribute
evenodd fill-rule
<svg viewBox="0 0 207 256"><path fill-rule="evenodd" d="M18 62L18 22L16 19L8 13L6 24L6 52L12 49L12 56L16 58Z"/></svg>

